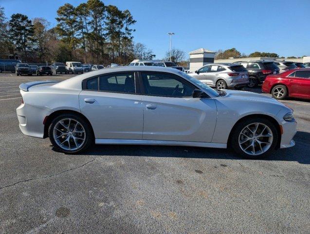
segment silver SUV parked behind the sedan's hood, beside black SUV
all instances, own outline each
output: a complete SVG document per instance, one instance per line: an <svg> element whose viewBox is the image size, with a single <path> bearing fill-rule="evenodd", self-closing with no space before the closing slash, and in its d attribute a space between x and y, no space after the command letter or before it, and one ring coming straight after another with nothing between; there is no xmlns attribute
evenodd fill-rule
<svg viewBox="0 0 310 234"><path fill-rule="evenodd" d="M249 83L248 71L240 64L210 63L188 75L217 89L240 89Z"/></svg>

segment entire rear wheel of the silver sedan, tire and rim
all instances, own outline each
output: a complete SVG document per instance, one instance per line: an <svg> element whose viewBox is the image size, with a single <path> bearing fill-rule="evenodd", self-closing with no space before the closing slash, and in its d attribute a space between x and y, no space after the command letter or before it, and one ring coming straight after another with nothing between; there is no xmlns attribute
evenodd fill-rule
<svg viewBox="0 0 310 234"><path fill-rule="evenodd" d="M84 151L93 143L91 126L74 114L56 117L49 127L49 137L57 151L67 154Z"/></svg>

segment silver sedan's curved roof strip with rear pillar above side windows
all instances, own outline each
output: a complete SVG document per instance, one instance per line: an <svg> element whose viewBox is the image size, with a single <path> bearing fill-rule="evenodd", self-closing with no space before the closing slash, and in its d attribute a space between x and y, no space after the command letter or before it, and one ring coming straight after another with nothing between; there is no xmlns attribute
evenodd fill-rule
<svg viewBox="0 0 310 234"><path fill-rule="evenodd" d="M53 86L55 87L66 87L68 89L78 89L80 90L82 80L86 78L96 77L100 75L105 75L113 72L135 72L135 71L154 71L154 72L168 72L175 75L180 75L180 70L175 68L169 68L169 67L157 67L157 66L118 66L118 67L109 67L105 69L100 69L88 73L84 73L78 76L75 76L73 78L69 78L66 80L63 80Z"/></svg>

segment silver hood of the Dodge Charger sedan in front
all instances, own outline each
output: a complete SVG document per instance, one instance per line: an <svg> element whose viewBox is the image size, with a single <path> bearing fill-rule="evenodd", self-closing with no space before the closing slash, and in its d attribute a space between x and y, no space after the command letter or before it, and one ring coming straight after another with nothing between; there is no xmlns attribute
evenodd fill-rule
<svg viewBox="0 0 310 234"><path fill-rule="evenodd" d="M283 103L277 101L274 98L268 97L266 95L262 95L262 94L256 94L253 92L247 92L247 91L237 91L237 90L225 90L226 92L226 96L224 96L225 98L233 98L236 99L236 101L238 100L250 100L250 101L254 101L254 102L266 102L266 103L274 103L277 105L281 105L281 106L286 106Z"/></svg>

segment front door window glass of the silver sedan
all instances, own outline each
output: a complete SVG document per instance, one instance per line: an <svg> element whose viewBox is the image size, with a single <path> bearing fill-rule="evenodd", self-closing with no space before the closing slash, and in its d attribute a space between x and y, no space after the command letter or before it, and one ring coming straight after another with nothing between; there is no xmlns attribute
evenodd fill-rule
<svg viewBox="0 0 310 234"><path fill-rule="evenodd" d="M146 95L164 97L190 97L195 86L182 78L163 73L142 73Z"/></svg>

